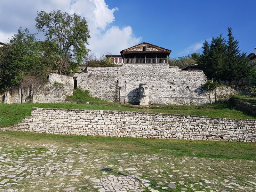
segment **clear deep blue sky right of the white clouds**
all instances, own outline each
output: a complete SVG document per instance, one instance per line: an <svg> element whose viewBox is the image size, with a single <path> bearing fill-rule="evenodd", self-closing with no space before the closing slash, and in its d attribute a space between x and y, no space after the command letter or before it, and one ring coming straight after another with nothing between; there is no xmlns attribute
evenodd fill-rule
<svg viewBox="0 0 256 192"><path fill-rule="evenodd" d="M201 52L204 39L227 36L233 29L243 52L256 47L256 10L253 0L106 0L109 8L118 7L110 24L131 26L134 36L172 50L171 57ZM197 49L197 50L196 50Z"/></svg>

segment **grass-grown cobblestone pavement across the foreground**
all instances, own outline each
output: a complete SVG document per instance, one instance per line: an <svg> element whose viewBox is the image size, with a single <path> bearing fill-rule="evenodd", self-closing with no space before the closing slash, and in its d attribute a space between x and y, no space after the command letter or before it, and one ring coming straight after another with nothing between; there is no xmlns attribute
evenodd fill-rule
<svg viewBox="0 0 256 192"><path fill-rule="evenodd" d="M256 190L255 161L115 154L88 143L0 141L0 191Z"/></svg>

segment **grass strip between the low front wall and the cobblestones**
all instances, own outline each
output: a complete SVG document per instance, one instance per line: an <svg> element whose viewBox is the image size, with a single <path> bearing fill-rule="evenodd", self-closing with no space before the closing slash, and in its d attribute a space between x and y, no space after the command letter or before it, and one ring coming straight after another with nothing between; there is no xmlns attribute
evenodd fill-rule
<svg viewBox="0 0 256 192"><path fill-rule="evenodd" d="M106 153L111 154L126 152L135 155L158 154L176 157L256 160L256 144L244 142L92 137L10 131L1 131L0 137L44 144L58 143L59 145L70 147L79 147L79 145L86 143L94 149L104 150ZM47 151L47 149L36 148L35 153L41 154L44 151Z"/></svg>

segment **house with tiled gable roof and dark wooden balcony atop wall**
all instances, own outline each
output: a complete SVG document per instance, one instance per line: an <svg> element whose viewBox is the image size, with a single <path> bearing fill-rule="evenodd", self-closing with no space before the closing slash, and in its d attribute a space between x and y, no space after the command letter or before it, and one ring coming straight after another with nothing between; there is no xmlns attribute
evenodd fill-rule
<svg viewBox="0 0 256 192"><path fill-rule="evenodd" d="M122 50L124 64L168 63L172 51L146 42Z"/></svg>

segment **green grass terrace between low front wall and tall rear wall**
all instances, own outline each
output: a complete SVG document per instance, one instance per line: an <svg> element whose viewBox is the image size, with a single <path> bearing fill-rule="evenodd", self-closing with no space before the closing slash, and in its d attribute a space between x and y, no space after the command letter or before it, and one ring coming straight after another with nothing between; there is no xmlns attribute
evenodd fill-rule
<svg viewBox="0 0 256 192"><path fill-rule="evenodd" d="M77 89L68 100L76 103L23 103L23 104L3 104L0 103L0 127L11 126L20 122L25 116L31 115L33 107L38 108L72 108L72 109L93 109L93 110L122 110L122 111L142 111L151 113L195 115L209 117L223 117L235 119L255 119L242 111L233 109L228 102L219 102L206 105L152 105L140 107L130 104L111 103L90 96L89 92ZM92 104L83 104L89 102Z"/></svg>

